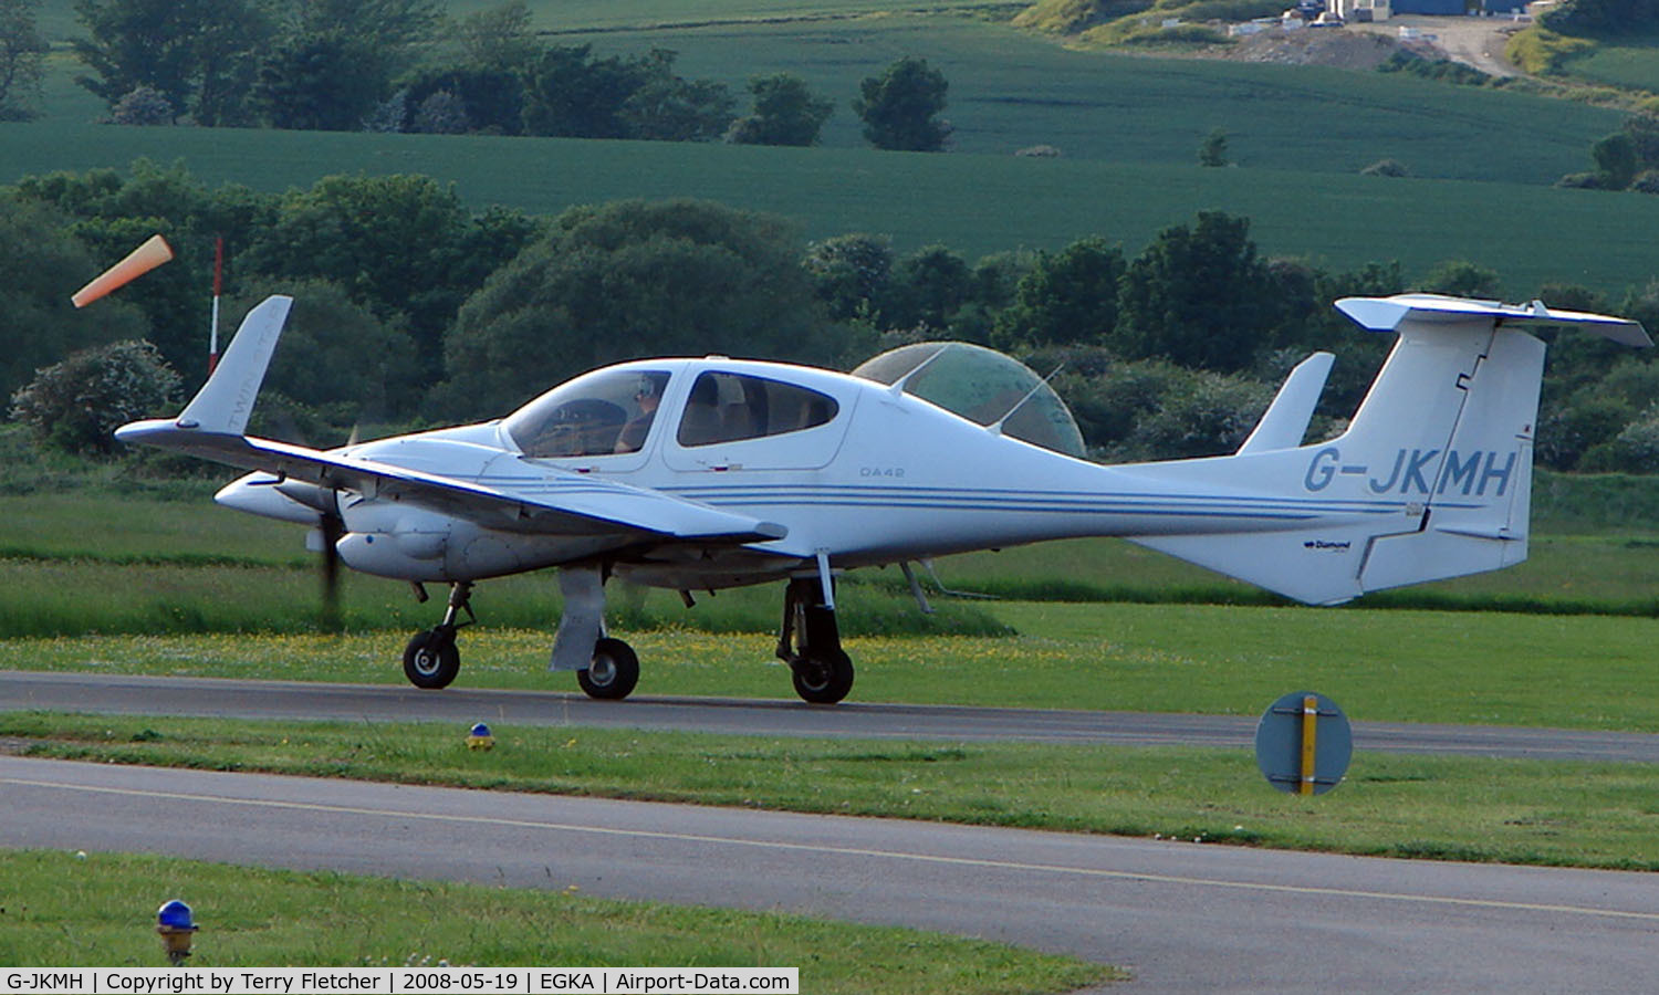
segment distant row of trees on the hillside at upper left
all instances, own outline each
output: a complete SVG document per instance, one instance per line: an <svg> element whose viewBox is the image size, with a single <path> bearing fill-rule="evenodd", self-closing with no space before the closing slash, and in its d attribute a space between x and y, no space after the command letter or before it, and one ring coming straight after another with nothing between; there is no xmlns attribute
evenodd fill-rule
<svg viewBox="0 0 1659 995"><path fill-rule="evenodd" d="M0 119L43 78L36 0L0 5ZM76 81L119 124L629 138L810 146L834 104L793 73L690 80L677 55L547 45L524 0L451 22L441 0L76 0ZM876 148L939 151L949 85L919 58L851 100Z"/></svg>

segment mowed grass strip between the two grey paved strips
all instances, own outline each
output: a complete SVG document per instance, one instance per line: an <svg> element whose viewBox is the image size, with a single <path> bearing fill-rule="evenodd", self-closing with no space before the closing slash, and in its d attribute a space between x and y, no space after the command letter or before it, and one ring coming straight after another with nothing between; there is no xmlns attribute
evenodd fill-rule
<svg viewBox="0 0 1659 995"><path fill-rule="evenodd" d="M0 715L25 755L932 819L1365 856L1659 869L1651 764L1362 753L1317 798L1246 750L771 740L498 723ZM73 829L65 847L75 847ZM805 988L805 983L803 983Z"/></svg>

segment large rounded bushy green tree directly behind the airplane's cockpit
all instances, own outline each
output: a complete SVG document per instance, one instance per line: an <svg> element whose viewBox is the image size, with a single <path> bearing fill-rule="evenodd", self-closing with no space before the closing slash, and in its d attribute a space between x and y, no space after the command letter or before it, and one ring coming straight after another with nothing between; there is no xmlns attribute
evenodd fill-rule
<svg viewBox="0 0 1659 995"><path fill-rule="evenodd" d="M838 350L780 217L705 201L572 207L493 274L445 338L448 416L499 413L582 370L710 352Z"/></svg>

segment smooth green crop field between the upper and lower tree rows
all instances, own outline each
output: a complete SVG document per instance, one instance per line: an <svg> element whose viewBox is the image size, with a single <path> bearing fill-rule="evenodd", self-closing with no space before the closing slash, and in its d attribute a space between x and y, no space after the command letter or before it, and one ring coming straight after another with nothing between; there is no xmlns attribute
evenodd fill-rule
<svg viewBox="0 0 1659 995"><path fill-rule="evenodd" d="M119 141L113 141L118 138ZM1659 197L1536 186L1201 169L1012 156L577 139L498 139L113 129L0 124L0 176L182 161L217 186L280 191L337 172L421 172L481 209L554 214L622 197L707 197L795 219L808 237L893 235L979 255L1102 235L1136 254L1198 211L1253 219L1262 252L1332 269L1400 260L1418 277L1447 259L1503 275L1511 297L1543 282L1621 294L1656 274ZM1569 245L1563 250L1563 245ZM1331 347L1340 353L1342 343Z"/></svg>

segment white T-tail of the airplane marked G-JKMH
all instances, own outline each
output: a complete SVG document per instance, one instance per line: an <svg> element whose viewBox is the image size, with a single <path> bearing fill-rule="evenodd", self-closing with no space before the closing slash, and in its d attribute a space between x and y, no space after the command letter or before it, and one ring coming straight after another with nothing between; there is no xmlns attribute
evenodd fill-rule
<svg viewBox="0 0 1659 995"><path fill-rule="evenodd" d="M1136 542L1311 604L1518 564L1545 345L1513 325L1581 325L1652 345L1636 322L1536 302L1405 294L1345 298L1337 308L1400 337L1349 431L1224 458L1243 478L1274 481L1276 496L1306 509L1304 524Z"/></svg>

